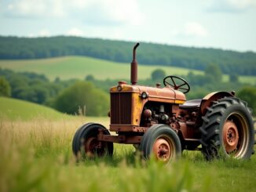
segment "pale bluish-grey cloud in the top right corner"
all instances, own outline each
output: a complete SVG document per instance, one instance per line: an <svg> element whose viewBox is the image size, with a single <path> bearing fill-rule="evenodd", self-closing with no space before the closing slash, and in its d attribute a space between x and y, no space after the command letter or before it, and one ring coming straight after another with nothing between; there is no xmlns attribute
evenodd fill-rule
<svg viewBox="0 0 256 192"><path fill-rule="evenodd" d="M208 6L208 10L218 13L242 13L255 8L255 0L211 0Z"/></svg>

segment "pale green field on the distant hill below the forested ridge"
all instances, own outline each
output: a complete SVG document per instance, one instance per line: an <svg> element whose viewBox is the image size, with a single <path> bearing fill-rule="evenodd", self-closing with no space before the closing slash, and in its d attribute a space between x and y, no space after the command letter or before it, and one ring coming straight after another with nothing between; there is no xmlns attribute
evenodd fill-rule
<svg viewBox="0 0 256 192"><path fill-rule="evenodd" d="M170 75L185 75L189 71L195 74L203 74L203 71L190 70L180 67L162 67L141 65L138 60L139 79L150 78L152 71L161 68ZM61 79L79 78L84 79L86 75L93 74L97 79L130 79L130 64L115 63L108 60L99 60L86 56L64 56L51 59L38 60L0 60L0 67L8 68L13 71L31 71L39 74L45 74L49 79L56 77ZM228 75L224 75L223 80L229 80ZM255 76L240 76L240 82L250 84L256 83Z"/></svg>

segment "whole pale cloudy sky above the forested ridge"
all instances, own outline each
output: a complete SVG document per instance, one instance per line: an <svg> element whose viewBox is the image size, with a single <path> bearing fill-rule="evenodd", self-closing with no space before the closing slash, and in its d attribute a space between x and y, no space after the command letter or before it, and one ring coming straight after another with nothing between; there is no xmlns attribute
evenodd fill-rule
<svg viewBox="0 0 256 192"><path fill-rule="evenodd" d="M256 0L0 0L0 35L256 52Z"/></svg>

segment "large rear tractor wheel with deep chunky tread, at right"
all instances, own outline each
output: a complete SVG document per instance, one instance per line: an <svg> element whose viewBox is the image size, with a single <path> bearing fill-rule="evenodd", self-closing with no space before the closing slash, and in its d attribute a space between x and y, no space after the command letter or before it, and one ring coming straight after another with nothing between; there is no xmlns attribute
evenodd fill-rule
<svg viewBox="0 0 256 192"><path fill-rule="evenodd" d="M207 160L248 159L254 153L254 123L246 102L236 97L215 101L202 119L202 152Z"/></svg>

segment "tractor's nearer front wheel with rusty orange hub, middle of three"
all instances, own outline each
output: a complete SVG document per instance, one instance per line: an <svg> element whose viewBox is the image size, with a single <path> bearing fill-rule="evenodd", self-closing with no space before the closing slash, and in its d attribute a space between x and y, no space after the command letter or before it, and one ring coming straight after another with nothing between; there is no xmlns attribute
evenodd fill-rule
<svg viewBox="0 0 256 192"><path fill-rule="evenodd" d="M144 133L139 150L145 159L168 163L181 156L181 141L170 126L153 125Z"/></svg>

